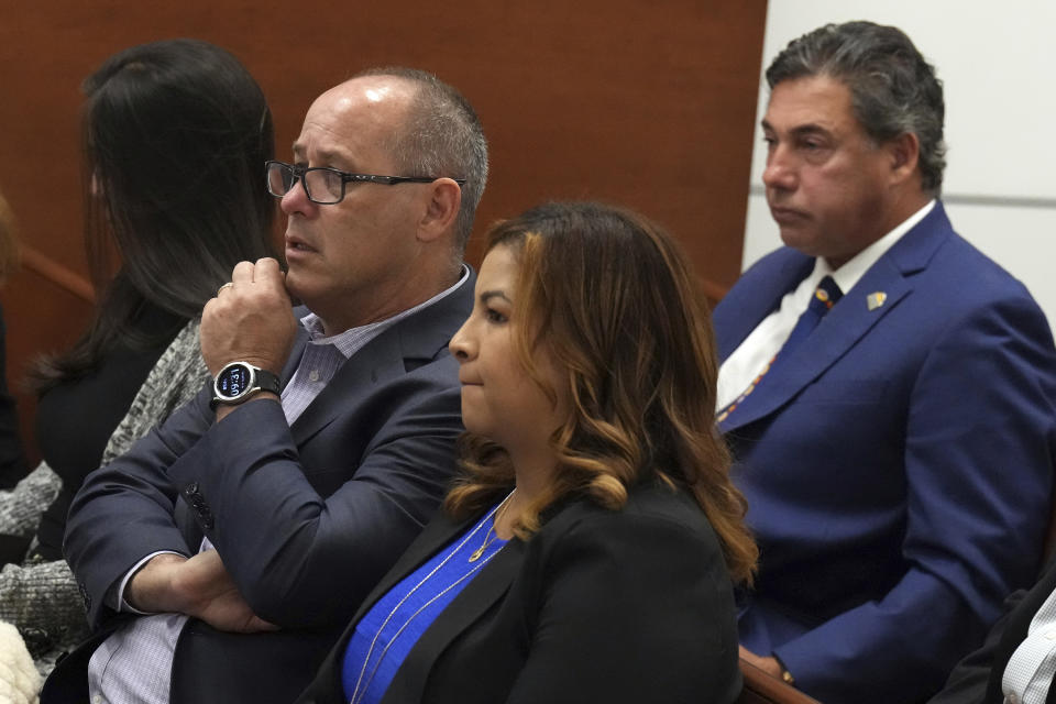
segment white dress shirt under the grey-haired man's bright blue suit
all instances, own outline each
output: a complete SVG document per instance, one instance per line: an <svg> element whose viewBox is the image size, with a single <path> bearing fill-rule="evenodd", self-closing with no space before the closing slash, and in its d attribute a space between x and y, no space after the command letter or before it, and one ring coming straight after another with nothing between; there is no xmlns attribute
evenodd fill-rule
<svg viewBox="0 0 1056 704"><path fill-rule="evenodd" d="M756 329L748 333L744 342L723 362L718 370L716 411L737 400L740 393L748 388L748 385L781 350L781 345L792 334L792 328L810 305L817 284L825 276L832 276L839 286L839 290L846 294L883 256L884 252L923 220L934 207L933 199L838 270L833 271L828 262L821 256L817 257L814 261L814 271L800 282L799 286L785 294L778 309L763 318L762 322L756 326Z"/></svg>

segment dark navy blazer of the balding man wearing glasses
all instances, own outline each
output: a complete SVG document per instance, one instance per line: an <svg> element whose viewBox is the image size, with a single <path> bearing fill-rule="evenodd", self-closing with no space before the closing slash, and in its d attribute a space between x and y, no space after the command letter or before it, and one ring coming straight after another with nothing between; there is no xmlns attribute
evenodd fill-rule
<svg viewBox="0 0 1056 704"><path fill-rule="evenodd" d="M202 536L253 610L282 627L221 634L191 619L175 654L174 704L288 704L435 513L463 429L447 345L472 308L474 278L356 352L293 426L266 402L215 424L206 388L88 476L65 550L100 637L121 616L105 595L140 559L194 554ZM306 339L301 331L284 385ZM64 661L42 701L84 690L97 641Z"/></svg>

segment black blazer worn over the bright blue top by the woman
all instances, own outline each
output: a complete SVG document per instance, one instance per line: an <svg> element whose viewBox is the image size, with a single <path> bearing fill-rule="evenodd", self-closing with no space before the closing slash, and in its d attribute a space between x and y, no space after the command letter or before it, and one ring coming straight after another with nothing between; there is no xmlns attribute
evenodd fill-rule
<svg viewBox="0 0 1056 704"><path fill-rule="evenodd" d="M345 701L341 666L354 624L477 518L429 524L298 702ZM735 620L718 540L688 494L636 488L618 512L570 501L477 573L411 649L383 701L734 702Z"/></svg>

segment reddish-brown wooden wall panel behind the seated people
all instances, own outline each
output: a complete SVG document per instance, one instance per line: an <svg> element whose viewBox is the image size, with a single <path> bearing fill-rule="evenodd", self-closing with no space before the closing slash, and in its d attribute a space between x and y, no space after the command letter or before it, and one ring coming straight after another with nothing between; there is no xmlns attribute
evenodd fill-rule
<svg viewBox="0 0 1056 704"><path fill-rule="evenodd" d="M108 55L175 36L229 48L268 97L280 157L322 90L404 64L458 86L481 114L492 178L477 231L548 198L625 204L671 229L718 297L740 267L765 19L765 0L12 3L0 189L26 242L82 275L79 82ZM32 270L2 301L12 381L90 310Z"/></svg>

